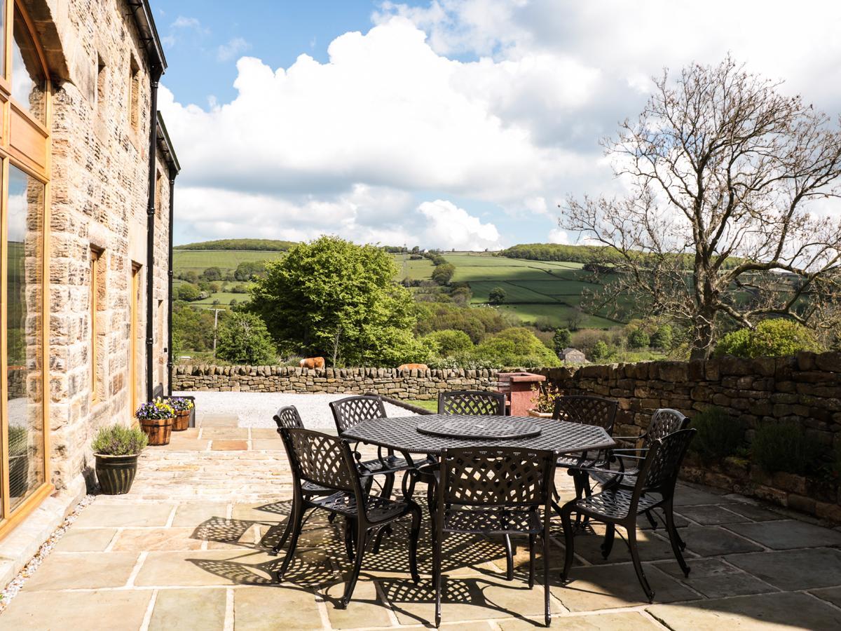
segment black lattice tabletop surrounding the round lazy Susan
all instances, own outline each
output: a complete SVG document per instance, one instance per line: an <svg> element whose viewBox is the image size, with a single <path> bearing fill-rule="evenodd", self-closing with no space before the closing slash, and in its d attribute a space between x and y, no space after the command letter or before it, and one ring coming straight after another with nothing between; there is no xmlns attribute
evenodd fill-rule
<svg viewBox="0 0 841 631"><path fill-rule="evenodd" d="M540 427L538 436L513 439L464 439L444 436L431 436L418 432L421 423L439 421L444 425L457 420L476 420L473 416L452 414L431 414L418 416L396 416L394 418L373 418L362 421L356 427L342 433L342 437L362 441L380 447L399 449L409 453L431 453L440 455L444 449L456 447L520 447L528 449L548 449L555 453L577 453L589 449L615 447L616 443L601 427L582 425L551 418L532 418L532 416L483 416L484 420L505 423L523 422Z"/></svg>

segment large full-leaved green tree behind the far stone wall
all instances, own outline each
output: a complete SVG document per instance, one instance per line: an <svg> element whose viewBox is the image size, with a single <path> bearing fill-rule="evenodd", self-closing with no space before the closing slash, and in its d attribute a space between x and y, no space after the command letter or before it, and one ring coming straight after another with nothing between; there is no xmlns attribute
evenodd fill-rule
<svg viewBox="0 0 841 631"><path fill-rule="evenodd" d="M357 365L423 361L429 349L412 334L415 305L394 283L396 273L382 248L322 236L268 263L249 309L262 315L283 353Z"/></svg>

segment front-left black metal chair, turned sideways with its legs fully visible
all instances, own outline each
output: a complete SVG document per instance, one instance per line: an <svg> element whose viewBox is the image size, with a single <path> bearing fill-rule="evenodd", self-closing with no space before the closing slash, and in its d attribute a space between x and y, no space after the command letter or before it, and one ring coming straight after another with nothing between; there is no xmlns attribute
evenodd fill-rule
<svg viewBox="0 0 841 631"><path fill-rule="evenodd" d="M292 465L294 501L293 515L290 519L293 526L292 536L283 565L278 571L278 581L283 581L283 575L294 557L303 528L304 512L307 509L320 509L341 515L353 524L353 528L346 528L345 531L345 543L348 556L353 560L353 570L339 607L347 607L351 601L362 568L365 546L373 533L406 515L412 518L409 538L410 573L415 583L420 581L417 570L417 545L421 532L421 508L411 500L413 477L405 479L409 482L404 483L403 497L400 500L371 496L362 483L362 479L371 474L366 471L360 473L357 469L357 459L346 440L307 429L285 427L281 430L281 437L289 463ZM306 495L305 484L330 489L332 493L329 496ZM349 533L355 541L350 540Z"/></svg>

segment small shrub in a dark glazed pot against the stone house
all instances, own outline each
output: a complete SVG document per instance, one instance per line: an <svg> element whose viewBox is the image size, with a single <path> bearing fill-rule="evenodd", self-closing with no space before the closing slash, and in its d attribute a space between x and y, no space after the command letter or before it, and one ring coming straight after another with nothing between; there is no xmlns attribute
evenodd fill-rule
<svg viewBox="0 0 841 631"><path fill-rule="evenodd" d="M97 480L105 495L128 493L137 474L137 457L149 439L138 427L100 427L93 439L97 459Z"/></svg>

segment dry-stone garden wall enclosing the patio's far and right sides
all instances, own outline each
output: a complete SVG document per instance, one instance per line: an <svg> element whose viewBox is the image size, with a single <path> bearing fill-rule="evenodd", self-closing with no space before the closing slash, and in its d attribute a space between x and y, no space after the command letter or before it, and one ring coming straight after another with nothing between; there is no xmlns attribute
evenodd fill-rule
<svg viewBox="0 0 841 631"><path fill-rule="evenodd" d="M794 422L828 450L841 448L841 353L799 353L789 358L713 358L581 368L529 369L569 395L619 401L616 435L638 436L654 410L669 407L693 416L718 406L744 422L749 443L757 427ZM325 369L278 366L179 366L176 390L258 392L377 392L394 399L433 399L442 390L495 390L492 370ZM720 464L689 458L683 475L747 496L841 523L838 484L826 477L768 475L746 459Z"/></svg>

